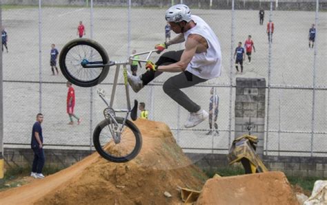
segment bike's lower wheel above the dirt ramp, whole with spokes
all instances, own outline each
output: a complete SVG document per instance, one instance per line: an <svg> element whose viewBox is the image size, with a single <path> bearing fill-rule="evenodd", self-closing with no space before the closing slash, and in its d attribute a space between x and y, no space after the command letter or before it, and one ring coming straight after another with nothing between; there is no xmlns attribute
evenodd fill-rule
<svg viewBox="0 0 327 205"><path fill-rule="evenodd" d="M118 125L121 127L124 118L116 117ZM142 147L142 138L139 129L130 120L126 120L125 126L120 133L120 141L114 140L110 127L115 122L110 120L101 121L93 132L93 144L101 157L111 162L128 162L135 158Z"/></svg>

